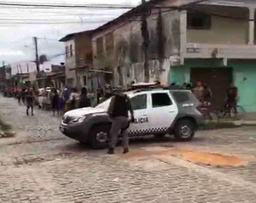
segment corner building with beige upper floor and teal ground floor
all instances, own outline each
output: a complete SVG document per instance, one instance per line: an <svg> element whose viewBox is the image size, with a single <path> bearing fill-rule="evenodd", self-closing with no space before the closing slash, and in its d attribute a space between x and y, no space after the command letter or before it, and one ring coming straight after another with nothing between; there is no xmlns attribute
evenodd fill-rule
<svg viewBox="0 0 256 203"><path fill-rule="evenodd" d="M181 63L171 67L170 81L207 83L214 107L233 83L239 104L256 111L255 7L251 0L216 0L182 11Z"/></svg>

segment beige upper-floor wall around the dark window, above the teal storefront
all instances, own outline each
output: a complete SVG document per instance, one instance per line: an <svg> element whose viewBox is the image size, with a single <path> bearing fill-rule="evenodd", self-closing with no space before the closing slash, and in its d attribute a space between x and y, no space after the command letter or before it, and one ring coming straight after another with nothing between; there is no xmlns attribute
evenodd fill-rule
<svg viewBox="0 0 256 203"><path fill-rule="evenodd" d="M247 44L249 9L216 5L197 5L198 10L227 17L211 16L210 29L188 29L188 43ZM241 20L245 19L245 20Z"/></svg>

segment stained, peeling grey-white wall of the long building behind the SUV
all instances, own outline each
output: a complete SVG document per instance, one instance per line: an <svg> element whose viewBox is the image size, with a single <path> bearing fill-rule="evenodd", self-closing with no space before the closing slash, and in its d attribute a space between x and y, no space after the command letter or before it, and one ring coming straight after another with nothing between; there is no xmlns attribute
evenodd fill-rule
<svg viewBox="0 0 256 203"><path fill-rule="evenodd" d="M161 83L168 84L169 70L173 63L170 57L178 56L180 53L180 12L176 10L162 12L164 58L161 63L158 57L157 17L158 9L152 10L152 14L147 19L150 35L148 50L150 82L160 80ZM109 32L110 30L102 33L103 38ZM139 20L117 27L114 30L114 49L108 52L105 50L101 56L97 55L96 38L92 40L94 68L110 67L113 72L114 85L126 87L132 81L144 82L143 40Z"/></svg>

